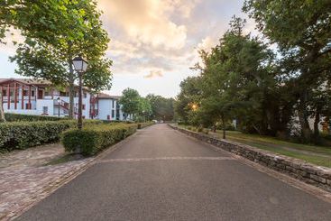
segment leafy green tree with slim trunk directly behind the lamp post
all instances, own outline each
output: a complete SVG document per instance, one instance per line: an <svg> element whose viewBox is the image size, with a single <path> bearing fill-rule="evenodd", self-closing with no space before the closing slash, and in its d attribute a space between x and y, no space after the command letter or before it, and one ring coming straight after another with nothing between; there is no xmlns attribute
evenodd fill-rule
<svg viewBox="0 0 331 221"><path fill-rule="evenodd" d="M88 60L88 69L83 76L84 84L94 91L111 87L111 61L104 58L109 41L106 31L100 22L100 13L94 1L84 0L68 2L63 5L68 13L79 12L78 21L63 23L63 30L70 29L81 33L75 36L61 34L55 41L27 37L16 55L16 73L33 78L45 78L56 85L69 87L69 117L74 115L74 84L78 78L72 66L72 59L83 54ZM59 18L61 19L61 18Z"/></svg>

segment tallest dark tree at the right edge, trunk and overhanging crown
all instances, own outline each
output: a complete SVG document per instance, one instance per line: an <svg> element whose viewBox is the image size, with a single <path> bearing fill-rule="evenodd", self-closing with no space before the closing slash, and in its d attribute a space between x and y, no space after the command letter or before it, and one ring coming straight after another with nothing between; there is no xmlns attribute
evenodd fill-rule
<svg viewBox="0 0 331 221"><path fill-rule="evenodd" d="M287 83L295 86L292 94L298 100L301 134L306 141L312 138L308 117L312 116L309 100L317 89L314 82L325 77L330 80L331 76L330 11L331 4L326 0L246 0L244 3L244 12L280 47L280 66L286 70L286 78L290 78Z"/></svg>

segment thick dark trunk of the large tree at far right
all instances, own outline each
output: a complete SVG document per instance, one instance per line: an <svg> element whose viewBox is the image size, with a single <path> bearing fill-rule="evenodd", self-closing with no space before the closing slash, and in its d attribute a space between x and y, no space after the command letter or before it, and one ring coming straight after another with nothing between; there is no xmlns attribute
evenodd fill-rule
<svg viewBox="0 0 331 221"><path fill-rule="evenodd" d="M311 140L311 130L310 126L308 124L308 114L307 114L307 90L305 90L303 93L300 95L300 102L298 106L298 116L299 116L299 123L301 126L301 134L302 138L306 141L309 142Z"/></svg>

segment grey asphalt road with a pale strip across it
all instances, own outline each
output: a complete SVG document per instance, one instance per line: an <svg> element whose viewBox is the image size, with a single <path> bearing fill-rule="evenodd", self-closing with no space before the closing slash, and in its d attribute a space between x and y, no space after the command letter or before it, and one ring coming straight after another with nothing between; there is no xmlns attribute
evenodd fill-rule
<svg viewBox="0 0 331 221"><path fill-rule="evenodd" d="M157 124L18 220L329 221L331 204Z"/></svg>

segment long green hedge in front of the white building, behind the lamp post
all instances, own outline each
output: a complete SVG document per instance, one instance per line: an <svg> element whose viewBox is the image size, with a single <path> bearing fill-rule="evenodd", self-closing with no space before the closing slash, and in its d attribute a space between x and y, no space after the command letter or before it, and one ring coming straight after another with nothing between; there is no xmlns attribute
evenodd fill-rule
<svg viewBox="0 0 331 221"><path fill-rule="evenodd" d="M84 121L85 126L102 124L97 120ZM0 124L0 152L23 150L42 143L60 140L60 134L77 126L76 120L9 122Z"/></svg>

